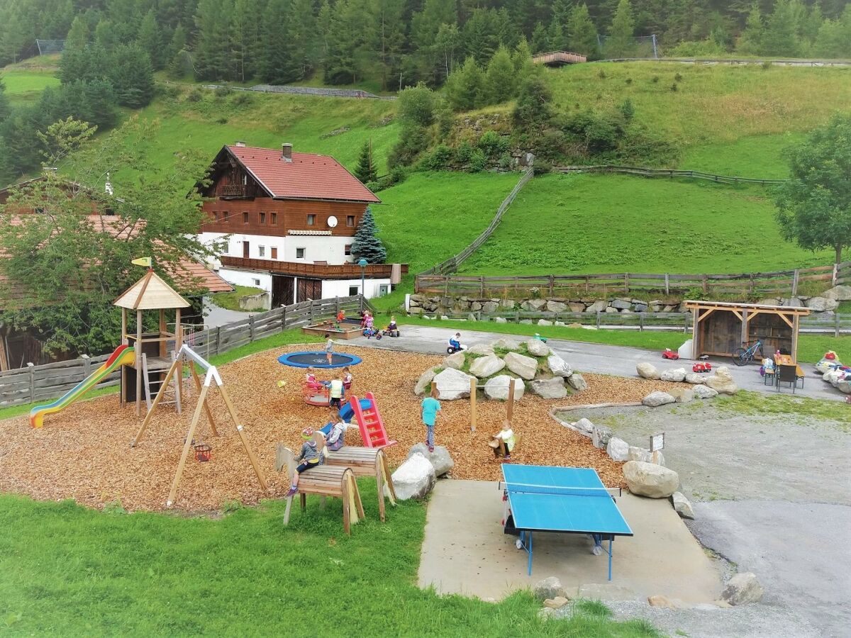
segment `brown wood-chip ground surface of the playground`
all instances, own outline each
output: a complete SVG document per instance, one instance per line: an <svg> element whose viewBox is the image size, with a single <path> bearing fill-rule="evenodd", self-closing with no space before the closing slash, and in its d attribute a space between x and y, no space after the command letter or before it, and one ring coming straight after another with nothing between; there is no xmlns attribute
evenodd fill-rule
<svg viewBox="0 0 851 638"><path fill-rule="evenodd" d="M220 510L222 504L238 500L256 504L262 498L280 498L288 481L275 470L277 443L300 447L303 428L322 427L328 409L307 405L301 394L305 371L281 365L277 358L287 352L305 350L289 346L267 350L219 368L219 372L244 426L248 445L254 451L269 490L264 493L248 462L243 443L227 418L228 410L218 392L210 392L208 405L214 413L219 436L211 436L204 419L193 439L211 447L210 460L200 463L190 455L180 481L174 507L188 511ZM363 358L352 367L351 394L374 393L389 436L398 441L387 448L391 467L402 463L408 449L424 439L420 420L420 397L411 389L425 367L441 356L391 352L346 346L339 350ZM317 370L324 379L332 371ZM323 376L325 373L325 376ZM665 383L642 379L616 379L604 375L585 376L588 389L559 400L559 405L604 402L618 386L619 396L640 401L649 391ZM279 385L279 382L285 382ZM42 428L33 429L20 417L0 423L0 491L32 498L74 498L89 507L102 508L120 501L127 510L163 510L174 471L186 439L191 412L198 392L185 379L182 414L173 406L157 409L137 447L131 448L139 427L132 403L120 407L117 396L101 396L75 402L61 413L50 414ZM589 445L584 437L563 428L549 416L553 402L527 394L514 406L514 427L523 435L515 458L518 463L593 467L609 486L624 486L620 463ZM487 443L500 430L505 403L478 402L478 427L470 431L470 402L443 402L445 419L437 425L437 444L448 447L455 461L454 478L495 481L500 464L495 463ZM362 441L357 426L346 432L346 445Z"/></svg>

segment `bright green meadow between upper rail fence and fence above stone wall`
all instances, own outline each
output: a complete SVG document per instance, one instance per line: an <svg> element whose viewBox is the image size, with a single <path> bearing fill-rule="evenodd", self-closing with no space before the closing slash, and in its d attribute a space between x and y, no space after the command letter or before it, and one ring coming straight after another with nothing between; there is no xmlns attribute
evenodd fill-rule
<svg viewBox="0 0 851 638"><path fill-rule="evenodd" d="M757 186L545 175L523 188L463 274L758 272L830 264L780 239Z"/></svg>

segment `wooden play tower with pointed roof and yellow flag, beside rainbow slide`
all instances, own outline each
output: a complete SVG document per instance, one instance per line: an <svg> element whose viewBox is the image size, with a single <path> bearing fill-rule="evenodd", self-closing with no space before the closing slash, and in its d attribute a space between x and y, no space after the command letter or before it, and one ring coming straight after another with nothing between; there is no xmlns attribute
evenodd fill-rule
<svg viewBox="0 0 851 638"><path fill-rule="evenodd" d="M140 416L142 392L145 393L146 407L150 410L151 399L164 383L168 383L165 373L174 361L174 353L183 345L180 310L188 308L190 303L149 268L145 276L125 290L113 304L121 308L122 343L133 346L136 351L133 366L121 368L121 404L135 401L136 416ZM146 310L159 313L156 332L145 332ZM173 333L168 332L166 310L174 310ZM129 332L131 314L134 314L135 319L134 333ZM163 397L165 400L160 404L174 403L180 413L180 374L175 374L171 383L173 390L168 393L168 398Z"/></svg>

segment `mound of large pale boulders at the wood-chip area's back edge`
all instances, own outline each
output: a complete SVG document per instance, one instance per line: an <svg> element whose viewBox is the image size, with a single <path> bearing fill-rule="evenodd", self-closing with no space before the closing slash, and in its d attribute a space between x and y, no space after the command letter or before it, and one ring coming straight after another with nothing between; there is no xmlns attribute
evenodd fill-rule
<svg viewBox="0 0 851 638"><path fill-rule="evenodd" d="M545 399L561 399L588 387L582 375L540 339L520 342L502 337L445 357L440 366L420 375L414 394L424 396L434 385L443 401L464 399L470 396L471 379L476 379L477 385L484 381L484 396L500 401L508 398L511 379L515 401L527 390Z"/></svg>

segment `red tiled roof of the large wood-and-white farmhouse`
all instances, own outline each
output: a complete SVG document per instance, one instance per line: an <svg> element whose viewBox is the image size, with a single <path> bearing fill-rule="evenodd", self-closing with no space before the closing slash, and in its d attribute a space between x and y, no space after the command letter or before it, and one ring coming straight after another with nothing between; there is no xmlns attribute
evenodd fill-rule
<svg viewBox="0 0 851 638"><path fill-rule="evenodd" d="M281 149L254 146L226 148L269 191L271 197L372 203L381 201L334 157L293 153L293 161L285 162Z"/></svg>

